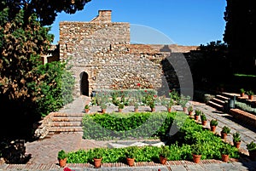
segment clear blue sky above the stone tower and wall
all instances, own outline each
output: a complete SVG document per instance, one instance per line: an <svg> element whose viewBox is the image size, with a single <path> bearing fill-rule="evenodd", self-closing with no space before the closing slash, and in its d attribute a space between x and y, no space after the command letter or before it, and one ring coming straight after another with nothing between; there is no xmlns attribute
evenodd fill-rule
<svg viewBox="0 0 256 171"><path fill-rule="evenodd" d="M166 43L167 38L167 43L197 46L223 40L225 7L226 0L91 0L76 14L58 14L50 33L56 44L60 21L90 21L105 9L112 10L113 22L131 24L132 42L137 42L134 38L140 29L149 29L160 36L143 43ZM157 40L160 37L162 42Z"/></svg>

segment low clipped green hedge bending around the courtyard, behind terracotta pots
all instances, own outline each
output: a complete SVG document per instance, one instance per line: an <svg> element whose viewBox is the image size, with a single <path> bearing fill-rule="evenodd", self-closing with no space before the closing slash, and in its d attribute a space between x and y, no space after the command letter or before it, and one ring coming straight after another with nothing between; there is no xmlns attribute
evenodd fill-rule
<svg viewBox="0 0 256 171"><path fill-rule="evenodd" d="M151 120L151 118L153 118ZM164 122L155 121L154 119L164 118ZM225 143L221 138L213 134L208 129L202 128L201 124L195 123L183 112L142 112L142 113L113 113L113 114L94 114L84 116L84 138L99 138L104 140L104 136L108 139L113 138L113 134L119 135L119 138L127 139L127 133L131 133L131 129L141 127L143 122L147 120L151 124L149 129L158 127L151 137L165 138L166 146L170 149L168 160L192 160L192 146L198 144L203 149L201 159L221 159L221 149L228 145L230 147L230 157L238 158L239 151L236 147ZM96 124L98 123L98 124ZM173 123L173 124L172 124ZM118 126L119 125L119 126ZM169 135L170 128L175 125L178 129L177 134ZM145 127L147 128L147 127ZM106 129L112 129L113 134L108 134ZM119 130L119 131L117 131ZM145 137L145 133L136 132L132 134L135 137ZM148 132L146 132L148 135ZM101 148L102 162L125 162L125 151L127 148ZM158 162L160 147L144 146L137 147L137 162ZM92 162L94 150L79 150L69 152L69 163L86 163Z"/></svg>

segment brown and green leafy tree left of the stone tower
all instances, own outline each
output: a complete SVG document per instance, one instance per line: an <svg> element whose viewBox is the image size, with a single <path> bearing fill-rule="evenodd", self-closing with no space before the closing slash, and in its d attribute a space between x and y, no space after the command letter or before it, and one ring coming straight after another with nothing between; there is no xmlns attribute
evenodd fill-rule
<svg viewBox="0 0 256 171"><path fill-rule="evenodd" d="M49 27L37 14L26 18L25 10L13 10L0 11L0 101L6 111L0 128L4 134L28 135L32 123L73 100L73 78L65 63L41 63L53 40Z"/></svg>

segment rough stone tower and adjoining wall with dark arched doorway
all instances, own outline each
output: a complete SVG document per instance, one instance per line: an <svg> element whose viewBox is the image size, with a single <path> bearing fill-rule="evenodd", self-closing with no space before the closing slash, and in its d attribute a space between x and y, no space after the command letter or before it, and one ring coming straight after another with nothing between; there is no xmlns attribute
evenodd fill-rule
<svg viewBox="0 0 256 171"><path fill-rule="evenodd" d="M130 43L130 24L112 22L111 10L99 10L89 22L60 22L60 60L72 65L75 94L99 89L178 87L168 58L197 47Z"/></svg>

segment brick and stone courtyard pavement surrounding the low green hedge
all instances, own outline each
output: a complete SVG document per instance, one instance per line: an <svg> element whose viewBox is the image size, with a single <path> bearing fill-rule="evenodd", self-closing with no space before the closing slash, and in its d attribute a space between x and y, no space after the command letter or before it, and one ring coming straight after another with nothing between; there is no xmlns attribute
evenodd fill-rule
<svg viewBox="0 0 256 171"><path fill-rule="evenodd" d="M65 106L60 112L70 112L70 113L83 113L84 104L88 103L90 98L80 96L73 101L72 104ZM104 163L102 168L94 168L90 163L78 163L78 164L67 164L67 168L72 170L133 170L133 171L256 171L256 162L251 161L247 157L246 144L254 141L256 142L256 131L255 128L248 128L246 125L241 125L237 121L233 120L230 115L223 113L222 111L217 111L209 105L198 103L195 101L191 102L195 108L201 109L206 115L208 121L212 118L218 120L217 133L220 132L224 125L231 128L231 134L235 131L239 131L241 134L241 152L244 153L243 157L239 160L230 159L230 162L221 162L218 160L202 160L200 163L195 164L190 161L168 161L166 165L161 165L160 163L154 162L137 162L134 167L129 167L125 163ZM108 109L110 112L114 109ZM130 111L131 108L126 108L126 111ZM124 110L124 112L126 112ZM143 108L147 111L149 108ZM164 108L156 108L156 111L164 110ZM177 106L176 110L181 110ZM90 112L98 111L97 108L92 108ZM207 123L209 127L209 122ZM228 135L227 140L231 141L232 136ZM31 160L26 164L5 164L0 163L0 170L63 170L58 166L57 153L61 149L65 151L78 151L80 149L90 149L95 147L107 147L109 145L124 145L121 141L97 141L97 140L84 140L82 138L82 133L61 133L54 134L49 139L38 140L33 142L26 142L26 153L31 154ZM134 141L133 143L138 143ZM131 144L133 144L131 143ZM143 142L139 142L143 143ZM155 144L160 144L160 141L155 142Z"/></svg>

